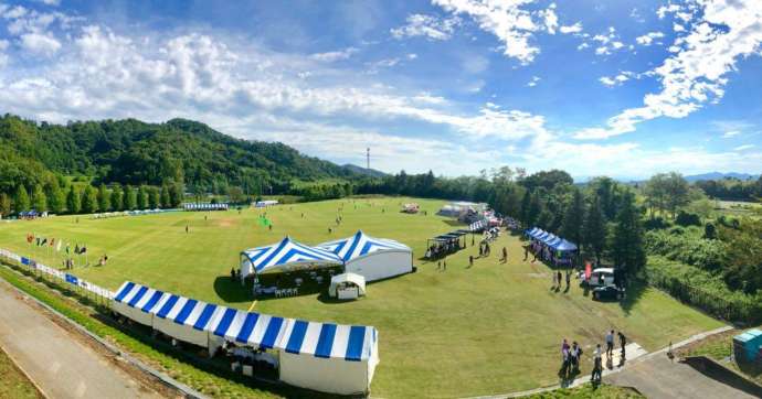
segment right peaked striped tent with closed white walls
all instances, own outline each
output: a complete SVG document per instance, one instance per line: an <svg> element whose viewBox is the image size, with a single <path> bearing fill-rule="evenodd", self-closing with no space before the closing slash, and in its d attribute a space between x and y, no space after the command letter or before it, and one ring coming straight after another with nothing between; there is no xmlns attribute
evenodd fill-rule
<svg viewBox="0 0 762 399"><path fill-rule="evenodd" d="M345 271L357 273L366 281L382 280L413 271L413 250L404 244L373 238L362 230L351 237L324 242L317 248L336 254Z"/></svg>

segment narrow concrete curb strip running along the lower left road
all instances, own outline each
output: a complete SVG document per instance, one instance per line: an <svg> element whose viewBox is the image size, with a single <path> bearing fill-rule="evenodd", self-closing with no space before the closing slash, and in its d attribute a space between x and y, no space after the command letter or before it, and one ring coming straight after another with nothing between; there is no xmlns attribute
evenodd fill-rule
<svg viewBox="0 0 762 399"><path fill-rule="evenodd" d="M13 270L12 267L9 267L8 265L4 265L4 263L0 263L0 265L2 265L2 267L10 270L11 272L18 273L18 271ZM108 352L110 352L114 356L116 356L117 360L126 362L130 366L137 368L138 370L140 370L144 374L149 375L150 377L152 377L157 381L163 384L165 386L170 387L172 389L176 389L178 392L180 392L186 398L208 399L208 397L204 396L203 393L188 387L187 385L184 385L180 381L177 381L172 377L170 377L170 376L168 376L168 375L166 375L159 370L154 369L152 367L144 364L142 362L138 360L137 358L130 356L129 354L127 354L124 351L119 349L118 347L114 346L109 342L107 342L107 341L103 339L102 337L93 334L87 328L80 325L77 322L68 319L67 316L60 313L59 311L56 311L52 306L47 305L43 301L40 301L36 298L34 298L33 295L28 294L23 290L19 289L18 287L11 284L10 282L8 282L6 280L3 280L3 282L6 282L6 284L8 287L13 289L15 292L18 292L24 299L33 301L34 303L36 303L38 305L42 306L47 312L50 312L50 314L53 315L54 317L57 317L59 320L67 323L68 325L74 327L78 333L81 333L81 334L85 335L86 337L88 337L89 339L93 339L94 342L98 343L100 346L103 346Z"/></svg>

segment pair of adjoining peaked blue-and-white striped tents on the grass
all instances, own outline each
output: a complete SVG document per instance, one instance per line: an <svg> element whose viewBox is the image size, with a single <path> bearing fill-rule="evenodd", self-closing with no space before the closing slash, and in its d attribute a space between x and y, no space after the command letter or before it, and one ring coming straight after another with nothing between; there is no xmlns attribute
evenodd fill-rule
<svg viewBox="0 0 762 399"><path fill-rule="evenodd" d="M353 236L309 246L290 237L241 252L241 278L250 274L287 272L313 267L343 266L375 281L413 270L413 250L404 244L374 238L358 230Z"/></svg>

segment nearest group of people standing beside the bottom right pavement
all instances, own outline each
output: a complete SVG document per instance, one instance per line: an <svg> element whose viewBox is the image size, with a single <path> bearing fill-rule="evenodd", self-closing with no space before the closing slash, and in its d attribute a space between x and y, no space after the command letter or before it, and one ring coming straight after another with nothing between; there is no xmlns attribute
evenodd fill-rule
<svg viewBox="0 0 762 399"><path fill-rule="evenodd" d="M622 331L616 334L620 341L620 366L624 365L626 359L625 347L627 346L627 337ZM614 357L614 341L615 341L614 330L611 330L605 335L606 349L603 352L601 349L601 344L595 344L595 349L593 349L593 370L590 375L590 381L593 384L600 384L603 376L603 355L611 363ZM574 341L571 345L567 338L563 338L561 343L561 369L559 376L564 380L570 380L580 373L580 359L582 358L582 347ZM613 367L612 364L608 365L610 368Z"/></svg>

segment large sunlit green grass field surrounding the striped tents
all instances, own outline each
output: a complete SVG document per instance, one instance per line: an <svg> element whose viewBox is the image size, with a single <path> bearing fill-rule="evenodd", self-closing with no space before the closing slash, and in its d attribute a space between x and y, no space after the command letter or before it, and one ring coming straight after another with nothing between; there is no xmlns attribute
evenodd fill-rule
<svg viewBox="0 0 762 399"><path fill-rule="evenodd" d="M400 203L410 201L421 204L428 215L399 213ZM272 244L285 235L318 244L362 228L371 236L408 244L419 258L427 237L458 228L451 219L434 216L443 204L440 201L357 198L343 201L343 223L329 235L340 203L271 208L267 215L273 231L258 225L255 209L112 219L81 216L78 223L68 216L0 223L0 247L54 267L60 266L60 256L49 255L50 249L34 250L25 242L25 235L76 240L87 244L91 262L108 255L105 267L74 270L94 283L116 289L129 279L248 309L251 298L229 278L242 249ZM186 225L190 234L186 234ZM388 398L477 396L537 388L558 381L563 337L580 342L589 355L589 346L601 342L607 328L621 328L631 341L654 351L721 325L647 288L633 290L622 304L593 302L574 283L569 293L551 292L550 269L521 261L520 240L508 235L493 246L491 258L478 259L467 268L468 255L478 252L468 244L466 250L447 259L446 271L416 260L416 273L369 284L368 296L360 301L324 303L315 294L258 301L254 310L375 326L381 364L372 392ZM504 246L509 261L500 265L498 252ZM590 371L590 365L583 362L583 374Z"/></svg>

